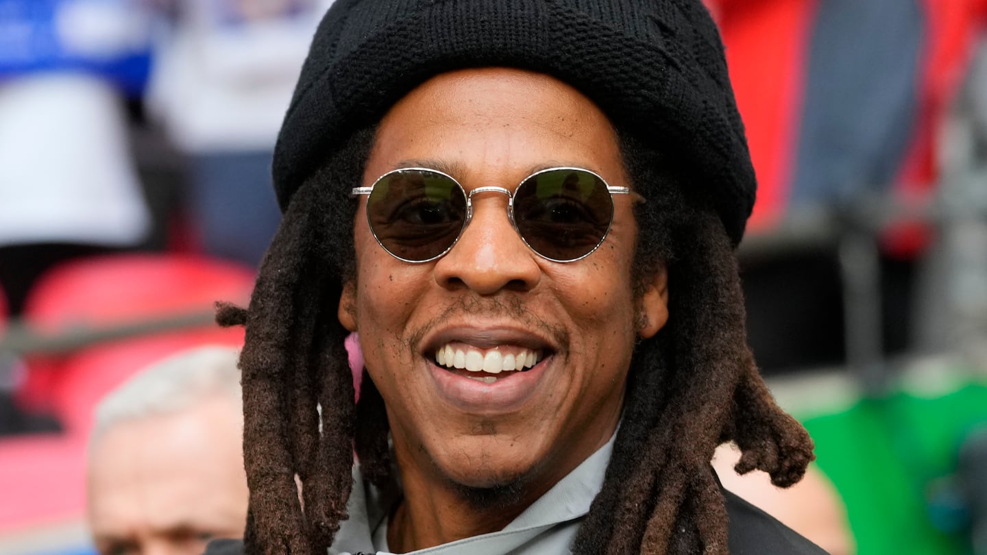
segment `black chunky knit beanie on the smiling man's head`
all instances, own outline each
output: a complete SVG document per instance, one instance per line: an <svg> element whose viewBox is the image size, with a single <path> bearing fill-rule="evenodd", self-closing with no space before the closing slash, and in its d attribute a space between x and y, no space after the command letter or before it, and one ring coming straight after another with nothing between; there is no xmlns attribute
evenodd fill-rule
<svg viewBox="0 0 987 555"><path fill-rule="evenodd" d="M685 185L740 241L754 170L720 35L700 0L337 0L274 150L282 208L329 152L419 84L488 66L565 81L617 129L682 161Z"/></svg>

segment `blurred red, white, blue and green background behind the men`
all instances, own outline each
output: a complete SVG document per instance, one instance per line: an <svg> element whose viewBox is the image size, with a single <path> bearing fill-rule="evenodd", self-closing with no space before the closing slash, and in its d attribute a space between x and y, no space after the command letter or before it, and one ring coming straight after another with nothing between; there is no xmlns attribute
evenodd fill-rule
<svg viewBox="0 0 987 555"><path fill-rule="evenodd" d="M0 554L94 553L97 401L242 342L331 0L0 0ZM847 553L987 554L987 0L707 0L758 175L751 346ZM805 498L811 513L812 500Z"/></svg>

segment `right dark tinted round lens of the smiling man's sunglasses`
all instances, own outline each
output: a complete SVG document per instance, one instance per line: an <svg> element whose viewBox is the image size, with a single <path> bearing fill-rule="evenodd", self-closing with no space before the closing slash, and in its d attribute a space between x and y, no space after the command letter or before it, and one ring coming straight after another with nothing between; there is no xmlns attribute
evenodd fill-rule
<svg viewBox="0 0 987 555"><path fill-rule="evenodd" d="M531 176L514 194L514 223L536 252L557 261L593 252L610 229L614 205L603 180L582 170Z"/></svg>

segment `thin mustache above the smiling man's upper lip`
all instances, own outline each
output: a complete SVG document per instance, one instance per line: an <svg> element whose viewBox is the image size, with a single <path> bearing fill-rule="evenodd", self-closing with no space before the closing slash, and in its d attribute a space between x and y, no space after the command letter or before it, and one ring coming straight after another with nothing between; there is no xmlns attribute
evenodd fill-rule
<svg viewBox="0 0 987 555"><path fill-rule="evenodd" d="M457 298L437 315L419 326L408 336L408 347L419 345L421 338L435 327L453 318L483 317L488 319L509 319L519 322L522 327L539 330L552 339L562 351L569 350L569 332L562 326L550 324L527 308L520 298L512 295L480 297L467 295Z"/></svg>

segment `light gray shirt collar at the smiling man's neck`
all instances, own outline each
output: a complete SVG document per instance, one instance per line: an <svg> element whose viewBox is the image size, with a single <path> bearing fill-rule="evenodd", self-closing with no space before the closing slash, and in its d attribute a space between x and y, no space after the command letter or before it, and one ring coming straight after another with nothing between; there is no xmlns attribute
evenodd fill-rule
<svg viewBox="0 0 987 555"><path fill-rule="evenodd" d="M582 461L551 490L507 524L502 530L419 549L420 555L535 555L568 553L582 518L603 486L603 475L613 450L613 437ZM353 468L353 491L329 555L377 553L387 555L387 517L399 492L383 492L366 485L359 468Z"/></svg>

